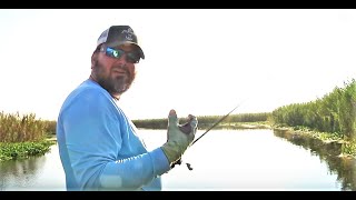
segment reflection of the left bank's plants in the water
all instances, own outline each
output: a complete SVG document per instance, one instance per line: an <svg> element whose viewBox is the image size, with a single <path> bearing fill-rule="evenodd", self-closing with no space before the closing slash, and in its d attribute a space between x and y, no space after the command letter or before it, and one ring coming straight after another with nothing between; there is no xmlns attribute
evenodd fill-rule
<svg viewBox="0 0 356 200"><path fill-rule="evenodd" d="M0 162L0 190L31 187L38 172L44 167L46 157L30 157L24 160Z"/></svg>

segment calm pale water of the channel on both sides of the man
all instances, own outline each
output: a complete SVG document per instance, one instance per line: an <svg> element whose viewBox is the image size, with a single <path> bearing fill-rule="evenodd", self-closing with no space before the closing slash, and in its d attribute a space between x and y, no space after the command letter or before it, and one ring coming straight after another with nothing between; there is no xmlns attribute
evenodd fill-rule
<svg viewBox="0 0 356 200"><path fill-rule="evenodd" d="M148 149L166 141L166 130L139 134ZM162 190L355 190L354 162L345 168L345 161L333 158L330 162L273 130L211 130L182 157L192 170L186 163L176 166L162 176ZM42 157L0 162L0 190L66 190L56 144Z"/></svg>

